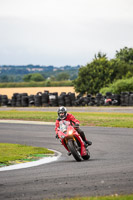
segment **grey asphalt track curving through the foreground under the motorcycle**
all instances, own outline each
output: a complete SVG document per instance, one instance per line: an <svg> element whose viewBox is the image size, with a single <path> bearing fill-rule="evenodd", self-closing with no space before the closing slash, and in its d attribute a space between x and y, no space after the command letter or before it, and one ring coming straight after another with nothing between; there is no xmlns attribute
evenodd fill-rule
<svg viewBox="0 0 133 200"><path fill-rule="evenodd" d="M0 142L55 149L59 160L0 172L0 200L133 194L133 129L81 127L93 142L91 159L67 156L53 125L0 123Z"/></svg>

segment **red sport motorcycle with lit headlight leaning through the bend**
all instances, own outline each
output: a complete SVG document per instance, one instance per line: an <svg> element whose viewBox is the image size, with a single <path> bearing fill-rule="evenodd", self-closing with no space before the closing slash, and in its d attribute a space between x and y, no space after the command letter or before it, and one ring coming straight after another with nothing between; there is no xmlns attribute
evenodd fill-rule
<svg viewBox="0 0 133 200"><path fill-rule="evenodd" d="M90 153L79 133L69 121L60 121L58 137L66 150L76 161L89 160Z"/></svg>

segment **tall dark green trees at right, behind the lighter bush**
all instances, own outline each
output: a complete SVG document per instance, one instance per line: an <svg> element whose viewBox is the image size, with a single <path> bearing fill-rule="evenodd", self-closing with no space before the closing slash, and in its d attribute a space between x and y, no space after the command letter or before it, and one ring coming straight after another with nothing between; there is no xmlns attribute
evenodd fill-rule
<svg viewBox="0 0 133 200"><path fill-rule="evenodd" d="M124 47L116 51L115 58L110 60L106 54L99 52L92 62L79 69L73 84L76 92L96 94L105 87L107 91L110 84L117 80L132 77L133 48ZM131 84L133 85L133 82Z"/></svg>

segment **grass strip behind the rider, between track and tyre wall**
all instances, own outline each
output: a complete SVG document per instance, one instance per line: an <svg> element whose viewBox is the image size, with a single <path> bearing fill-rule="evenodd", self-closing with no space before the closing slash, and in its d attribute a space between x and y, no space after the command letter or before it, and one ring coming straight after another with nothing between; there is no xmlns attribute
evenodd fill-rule
<svg viewBox="0 0 133 200"><path fill-rule="evenodd" d="M132 113L93 113L93 112L71 112L79 121L81 126L103 126L133 128ZM31 121L55 122L57 112L43 111L0 111L0 119L17 119Z"/></svg>

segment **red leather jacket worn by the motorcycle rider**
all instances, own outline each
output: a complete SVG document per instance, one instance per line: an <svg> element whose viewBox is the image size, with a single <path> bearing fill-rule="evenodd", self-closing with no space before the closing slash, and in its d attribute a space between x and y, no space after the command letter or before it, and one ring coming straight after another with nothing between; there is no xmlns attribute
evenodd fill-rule
<svg viewBox="0 0 133 200"><path fill-rule="evenodd" d="M77 119L76 119L72 114L70 114L70 113L67 113L67 116L66 116L66 118L65 118L64 120L69 121L69 122L74 122L74 123L76 123L76 124L79 124L79 120L77 120ZM56 132L56 134L58 134L58 128L59 128L59 126L60 126L60 121L61 121L61 119L58 118L58 119L56 120L56 122L55 122L55 132ZM73 123L73 125L74 125L74 123Z"/></svg>

